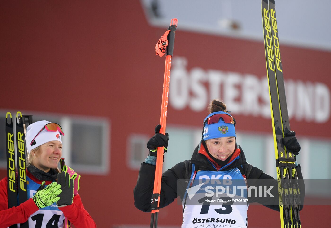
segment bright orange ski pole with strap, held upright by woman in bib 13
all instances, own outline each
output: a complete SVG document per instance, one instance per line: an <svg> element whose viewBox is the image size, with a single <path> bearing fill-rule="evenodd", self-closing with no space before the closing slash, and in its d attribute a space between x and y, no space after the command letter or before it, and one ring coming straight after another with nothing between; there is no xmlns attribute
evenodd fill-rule
<svg viewBox="0 0 331 228"><path fill-rule="evenodd" d="M160 124L162 125L160 133L166 133L166 115L168 109L168 97L169 97L169 81L170 81L170 67L171 57L173 54L173 45L175 41L175 31L177 28L177 19L171 19L168 30L163 34L160 40L155 45L156 55L162 57L166 53L166 67L165 75L163 80L163 93L162 93L162 106L161 106L161 117ZM158 147L156 157L156 169L154 179L154 190L151 199L151 228L158 227L158 214L160 207L160 192L161 192L161 179L162 179L162 165L163 165L163 147Z"/></svg>

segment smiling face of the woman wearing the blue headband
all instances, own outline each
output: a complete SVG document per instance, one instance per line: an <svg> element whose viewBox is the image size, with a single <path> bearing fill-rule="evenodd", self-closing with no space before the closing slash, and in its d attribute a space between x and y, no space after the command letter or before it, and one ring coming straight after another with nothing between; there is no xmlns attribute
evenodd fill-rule
<svg viewBox="0 0 331 228"><path fill-rule="evenodd" d="M223 137L206 140L209 153L218 160L225 161L234 152L236 142L234 137Z"/></svg>

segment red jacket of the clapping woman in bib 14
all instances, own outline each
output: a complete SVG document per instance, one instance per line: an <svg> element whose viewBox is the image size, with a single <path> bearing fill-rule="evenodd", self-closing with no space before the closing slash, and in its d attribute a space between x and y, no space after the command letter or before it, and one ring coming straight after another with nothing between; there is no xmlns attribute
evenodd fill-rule
<svg viewBox="0 0 331 228"><path fill-rule="evenodd" d="M36 179L29 171L26 171L28 177L38 184L42 181ZM46 181L46 185L52 183ZM64 216L77 228L92 228L96 227L95 222L89 213L85 210L80 196L73 197L73 203L68 206L59 207ZM23 223L28 220L31 214L39 210L33 199L28 199L19 206L8 209L7 196L7 177L0 181L0 228L6 228L16 223Z"/></svg>

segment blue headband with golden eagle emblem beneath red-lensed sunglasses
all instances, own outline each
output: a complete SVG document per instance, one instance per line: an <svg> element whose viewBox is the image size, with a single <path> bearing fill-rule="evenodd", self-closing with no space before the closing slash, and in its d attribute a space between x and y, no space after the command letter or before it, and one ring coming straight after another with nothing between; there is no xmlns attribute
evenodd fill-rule
<svg viewBox="0 0 331 228"><path fill-rule="evenodd" d="M215 114L227 114L232 117L232 115L226 112L214 112L209 114L204 119L204 123L209 117ZM206 122L206 124L204 125L203 140L206 141L208 139L215 139L222 137L237 137L236 129L233 124L225 123L222 118L219 119L218 123L208 124L208 122Z"/></svg>

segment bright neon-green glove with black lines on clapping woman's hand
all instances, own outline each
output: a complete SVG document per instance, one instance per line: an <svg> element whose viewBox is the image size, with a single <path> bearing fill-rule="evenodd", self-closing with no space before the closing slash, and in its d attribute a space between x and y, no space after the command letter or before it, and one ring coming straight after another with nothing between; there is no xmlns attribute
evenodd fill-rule
<svg viewBox="0 0 331 228"><path fill-rule="evenodd" d="M36 194L33 196L33 201L37 207L44 208L54 204L56 201L60 200L58 195L62 192L60 189L61 185L53 182L45 188L45 181L43 181L38 188Z"/></svg>

